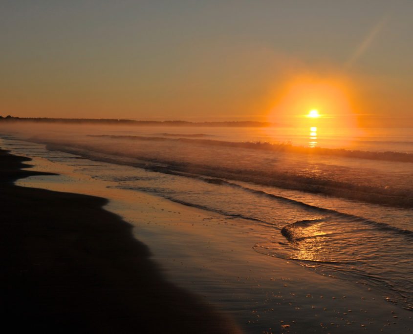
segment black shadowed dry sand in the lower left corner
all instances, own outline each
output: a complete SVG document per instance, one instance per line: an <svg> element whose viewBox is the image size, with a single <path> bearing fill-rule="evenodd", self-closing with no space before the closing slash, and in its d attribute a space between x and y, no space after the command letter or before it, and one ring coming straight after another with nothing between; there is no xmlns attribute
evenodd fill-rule
<svg viewBox="0 0 413 334"><path fill-rule="evenodd" d="M41 174L0 150L2 326L12 332L239 333L167 282L106 200L23 188Z"/></svg>

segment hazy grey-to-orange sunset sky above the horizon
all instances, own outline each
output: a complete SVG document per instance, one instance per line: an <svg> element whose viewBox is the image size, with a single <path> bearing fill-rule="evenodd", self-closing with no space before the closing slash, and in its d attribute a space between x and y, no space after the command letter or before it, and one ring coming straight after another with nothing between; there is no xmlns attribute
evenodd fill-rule
<svg viewBox="0 0 413 334"><path fill-rule="evenodd" d="M0 115L413 126L412 18L412 0L0 0Z"/></svg>

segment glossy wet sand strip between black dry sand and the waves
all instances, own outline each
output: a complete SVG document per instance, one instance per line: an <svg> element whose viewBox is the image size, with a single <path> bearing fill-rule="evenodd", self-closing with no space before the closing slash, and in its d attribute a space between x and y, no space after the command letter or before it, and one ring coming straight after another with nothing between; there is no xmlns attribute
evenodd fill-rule
<svg viewBox="0 0 413 334"><path fill-rule="evenodd" d="M245 333L411 333L412 312L391 296L387 300L364 284L255 252L260 230L242 219L110 188L113 184L91 179L80 167L43 158L32 163L35 170L61 175L33 176L19 185L110 199L105 209L133 226L168 281L230 315Z"/></svg>

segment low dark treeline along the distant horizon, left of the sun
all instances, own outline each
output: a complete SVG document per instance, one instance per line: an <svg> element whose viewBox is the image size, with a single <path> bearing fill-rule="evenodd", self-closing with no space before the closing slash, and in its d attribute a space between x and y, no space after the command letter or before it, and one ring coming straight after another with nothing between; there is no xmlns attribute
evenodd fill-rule
<svg viewBox="0 0 413 334"><path fill-rule="evenodd" d="M268 127L275 126L269 122L187 122L187 121L135 121L126 119L93 119L93 118L31 118L0 116L0 122L36 122L65 124L104 124L104 125L138 125L138 126L232 126L232 127Z"/></svg>

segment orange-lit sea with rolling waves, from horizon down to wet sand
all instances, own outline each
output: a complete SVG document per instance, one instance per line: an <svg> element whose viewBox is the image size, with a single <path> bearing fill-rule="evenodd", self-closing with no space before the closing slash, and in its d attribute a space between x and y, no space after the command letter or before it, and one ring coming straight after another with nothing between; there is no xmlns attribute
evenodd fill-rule
<svg viewBox="0 0 413 334"><path fill-rule="evenodd" d="M374 286L413 309L412 135L371 129L364 137L321 138L318 132L315 148L331 151L317 153L307 149L307 132L0 128L1 146L14 153L76 166L112 187L243 218L265 236L255 251Z"/></svg>

